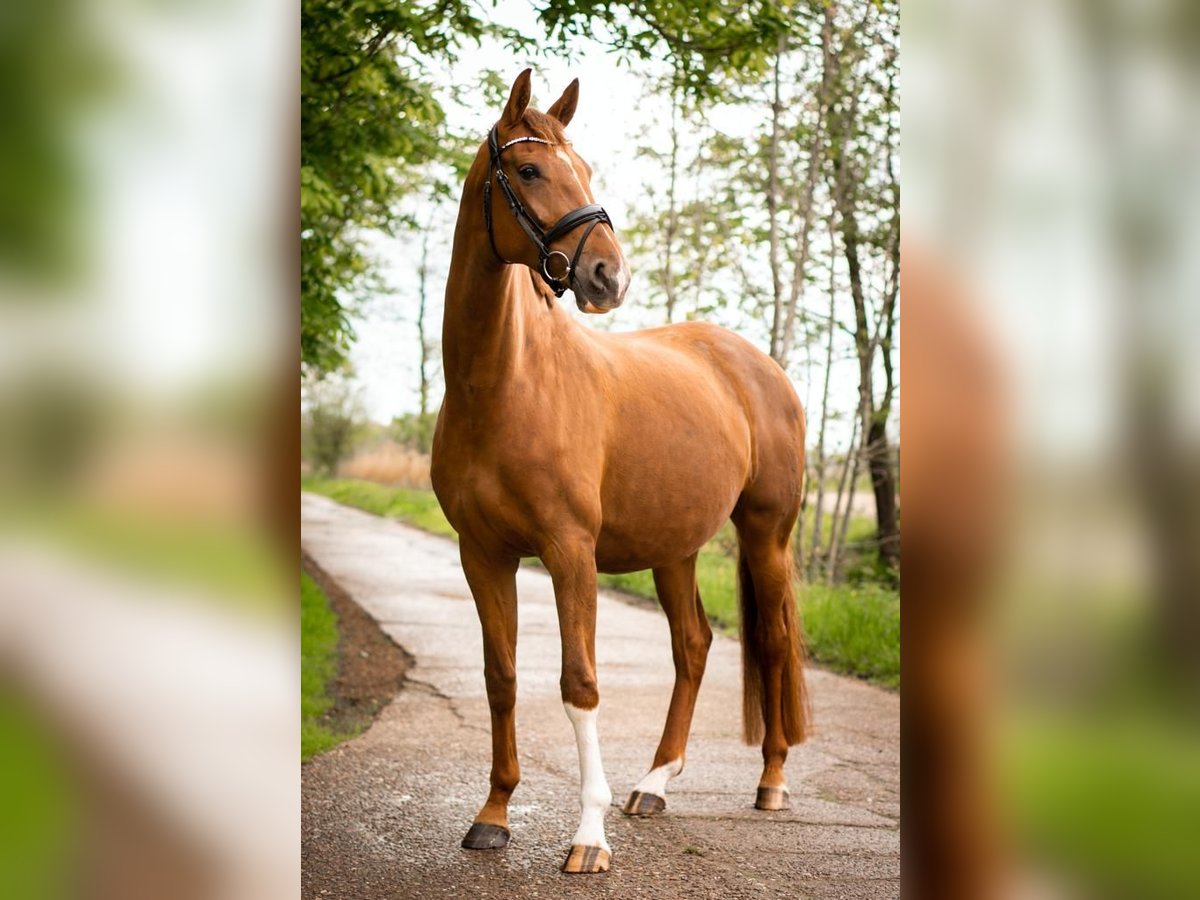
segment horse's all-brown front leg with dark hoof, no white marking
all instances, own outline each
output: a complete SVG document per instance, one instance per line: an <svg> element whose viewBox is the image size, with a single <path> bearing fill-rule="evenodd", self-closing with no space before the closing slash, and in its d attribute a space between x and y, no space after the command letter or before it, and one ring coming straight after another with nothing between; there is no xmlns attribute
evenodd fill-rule
<svg viewBox="0 0 1200 900"><path fill-rule="evenodd" d="M521 780L514 708L517 701L517 559L461 545L462 569L484 629L484 678L492 709L492 790L462 846L494 850L509 842L509 797Z"/></svg>

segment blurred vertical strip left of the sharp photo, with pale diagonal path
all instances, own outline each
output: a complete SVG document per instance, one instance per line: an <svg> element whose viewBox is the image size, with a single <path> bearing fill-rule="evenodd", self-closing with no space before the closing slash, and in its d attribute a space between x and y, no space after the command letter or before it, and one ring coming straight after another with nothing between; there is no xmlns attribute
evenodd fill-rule
<svg viewBox="0 0 1200 900"><path fill-rule="evenodd" d="M5 896L298 893L296 23L0 13Z"/></svg>

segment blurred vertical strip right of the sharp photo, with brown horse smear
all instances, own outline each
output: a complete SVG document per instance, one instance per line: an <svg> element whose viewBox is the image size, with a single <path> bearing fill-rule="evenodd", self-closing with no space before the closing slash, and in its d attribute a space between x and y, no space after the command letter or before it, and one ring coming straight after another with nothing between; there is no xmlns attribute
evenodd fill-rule
<svg viewBox="0 0 1200 900"><path fill-rule="evenodd" d="M905 876L1195 896L1198 7L901 30Z"/></svg>

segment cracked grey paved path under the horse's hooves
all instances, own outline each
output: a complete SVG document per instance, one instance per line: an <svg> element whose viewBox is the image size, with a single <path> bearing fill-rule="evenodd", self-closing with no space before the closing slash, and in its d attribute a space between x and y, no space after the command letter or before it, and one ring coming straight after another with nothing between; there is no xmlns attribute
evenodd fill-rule
<svg viewBox="0 0 1200 900"><path fill-rule="evenodd" d="M816 734L787 762L792 809L757 811L761 757L739 738L739 649L721 636L666 812L622 815L654 755L673 674L666 618L605 594L596 659L612 870L562 875L578 762L558 695L553 593L534 569L517 575L522 781L512 842L461 850L487 794L491 744L480 629L457 547L311 494L301 521L305 550L415 656L376 724L305 767L305 896L899 896L900 698L810 671Z"/></svg>

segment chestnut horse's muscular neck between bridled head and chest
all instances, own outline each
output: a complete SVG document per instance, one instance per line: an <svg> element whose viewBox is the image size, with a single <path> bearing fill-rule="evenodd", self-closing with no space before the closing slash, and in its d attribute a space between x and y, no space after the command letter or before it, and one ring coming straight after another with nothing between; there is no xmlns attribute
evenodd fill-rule
<svg viewBox="0 0 1200 900"><path fill-rule="evenodd" d="M570 317L539 295L524 266L496 260L481 220L464 204L455 230L442 324L446 394L463 398L511 382L532 358L545 359L532 352L570 323Z"/></svg>

